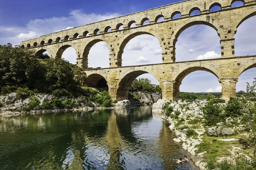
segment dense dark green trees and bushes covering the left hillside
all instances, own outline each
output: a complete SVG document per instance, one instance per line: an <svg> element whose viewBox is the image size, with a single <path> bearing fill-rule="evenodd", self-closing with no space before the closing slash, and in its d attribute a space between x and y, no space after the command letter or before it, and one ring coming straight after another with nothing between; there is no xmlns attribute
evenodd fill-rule
<svg viewBox="0 0 256 170"><path fill-rule="evenodd" d="M42 59L44 58L44 59ZM100 107L110 107L112 100L108 92L82 87L86 74L77 65L63 59L51 59L49 56L34 56L31 50L22 49L12 44L0 45L0 94L17 93L17 99L30 97L30 103L24 110L36 107L48 109L53 107L72 108L92 102ZM39 106L36 93L52 94L53 101ZM59 97L65 96L65 100ZM75 102L74 98L79 101Z"/></svg>

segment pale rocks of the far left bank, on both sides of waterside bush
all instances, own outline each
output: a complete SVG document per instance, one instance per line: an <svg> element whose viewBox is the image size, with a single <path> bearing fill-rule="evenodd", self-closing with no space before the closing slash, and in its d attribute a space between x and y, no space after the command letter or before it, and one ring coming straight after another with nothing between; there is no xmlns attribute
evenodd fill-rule
<svg viewBox="0 0 256 170"><path fill-rule="evenodd" d="M149 105L158 101L162 97L160 93L149 92L131 92L129 100L118 101L112 103L112 107L131 107L140 105ZM100 108L97 103L84 99L85 97L76 97L69 99L68 97L58 97L59 101L55 101L56 97L50 94L34 94L30 97L19 98L17 93L0 96L0 114L23 114L33 112L55 112L55 111L78 111L93 110ZM54 103L54 104L51 104ZM65 106L57 105L64 103ZM47 105L48 104L48 105ZM31 105L33 105L31 107ZM67 106L66 106L67 105ZM28 109L30 107L30 109Z"/></svg>

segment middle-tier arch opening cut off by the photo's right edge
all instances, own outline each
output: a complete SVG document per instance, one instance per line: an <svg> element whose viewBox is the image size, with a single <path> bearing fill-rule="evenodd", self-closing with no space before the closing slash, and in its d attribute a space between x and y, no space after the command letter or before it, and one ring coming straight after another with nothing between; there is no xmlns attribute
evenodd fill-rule
<svg viewBox="0 0 256 170"><path fill-rule="evenodd" d="M256 23L256 12L247 15L237 25L235 31L235 55L236 56L248 56L255 55L255 24Z"/></svg>

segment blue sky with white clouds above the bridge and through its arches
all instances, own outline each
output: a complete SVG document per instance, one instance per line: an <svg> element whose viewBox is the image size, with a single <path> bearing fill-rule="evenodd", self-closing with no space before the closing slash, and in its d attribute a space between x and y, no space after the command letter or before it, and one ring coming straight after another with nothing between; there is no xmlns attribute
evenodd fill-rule
<svg viewBox="0 0 256 170"><path fill-rule="evenodd" d="M0 44L11 42L20 44L26 39L58 30L76 27L113 18L149 8L167 5L177 1L155 0L114 0L114 1L3 1L0 6ZM238 27L235 35L235 54L256 54L256 16L251 17ZM204 35L204 36L201 36ZM176 61L220 57L220 39L214 29L206 25L195 25L181 33L176 43ZM109 67L109 50L105 42L95 44L88 56L89 67ZM72 47L62 57L71 63L76 62ZM128 42L123 53L123 66L161 63L161 47L158 40L151 35L140 35ZM252 82L256 69L245 71L237 83L237 91L245 90L246 82ZM150 74L140 77L150 78ZM196 71L182 81L181 91L186 92L219 92L221 86L211 73Z"/></svg>

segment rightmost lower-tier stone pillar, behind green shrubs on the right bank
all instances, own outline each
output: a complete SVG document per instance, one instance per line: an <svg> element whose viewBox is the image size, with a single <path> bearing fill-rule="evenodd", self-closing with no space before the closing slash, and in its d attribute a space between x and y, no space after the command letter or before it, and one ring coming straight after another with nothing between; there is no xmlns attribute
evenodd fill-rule
<svg viewBox="0 0 256 170"><path fill-rule="evenodd" d="M236 83L238 78L228 77L221 78L220 82L222 85L222 99L229 100L230 97L236 97Z"/></svg>

